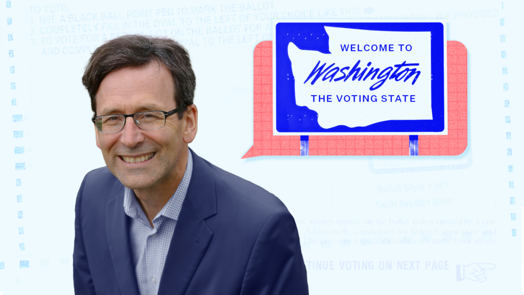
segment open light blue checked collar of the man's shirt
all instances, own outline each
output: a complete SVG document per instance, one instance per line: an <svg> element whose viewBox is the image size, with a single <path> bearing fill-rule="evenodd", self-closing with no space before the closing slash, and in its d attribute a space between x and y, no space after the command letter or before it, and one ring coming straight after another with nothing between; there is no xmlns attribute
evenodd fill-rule
<svg viewBox="0 0 524 295"><path fill-rule="evenodd" d="M188 191L192 172L193 156L191 155L191 151L188 149L188 163L185 166L184 176L182 177L182 180L178 185L177 191L174 192L173 195L171 195L169 201L166 203L166 205L163 206L162 210L158 212L154 220L160 216L166 216L173 220L178 220L178 215L180 214L180 210L182 209L182 203L185 199L185 194ZM138 204L133 190L124 187L124 212L126 213L126 215L131 218L138 218L139 213L143 213L141 211L142 208L140 207L140 204Z"/></svg>

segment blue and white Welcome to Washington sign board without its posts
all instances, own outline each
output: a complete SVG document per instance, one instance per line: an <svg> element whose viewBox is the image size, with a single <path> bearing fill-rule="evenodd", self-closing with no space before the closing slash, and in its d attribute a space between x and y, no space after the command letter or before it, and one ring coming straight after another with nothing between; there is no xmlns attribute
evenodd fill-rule
<svg viewBox="0 0 524 295"><path fill-rule="evenodd" d="M446 135L445 23L275 21L274 135Z"/></svg>

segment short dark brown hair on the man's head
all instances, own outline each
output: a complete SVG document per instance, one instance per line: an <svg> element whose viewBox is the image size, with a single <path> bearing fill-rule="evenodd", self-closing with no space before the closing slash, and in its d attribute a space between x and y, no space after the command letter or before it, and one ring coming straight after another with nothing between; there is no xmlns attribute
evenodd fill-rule
<svg viewBox="0 0 524 295"><path fill-rule="evenodd" d="M82 84L91 97L91 110L96 116L96 92L105 76L125 67L144 67L158 61L170 72L174 80L174 100L177 107L184 104L183 112L193 104L196 79L189 54L177 41L141 35L124 35L105 42L93 52L85 67ZM183 117L178 113L178 118Z"/></svg>

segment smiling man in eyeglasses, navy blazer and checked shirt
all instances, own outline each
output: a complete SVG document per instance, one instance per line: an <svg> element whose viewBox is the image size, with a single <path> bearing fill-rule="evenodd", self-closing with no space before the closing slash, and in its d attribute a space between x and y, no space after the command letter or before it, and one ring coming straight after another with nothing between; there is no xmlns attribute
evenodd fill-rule
<svg viewBox="0 0 524 295"><path fill-rule="evenodd" d="M75 294L307 294L297 226L276 196L188 148L198 122L187 51L127 35L82 82L107 167L75 206Z"/></svg>

